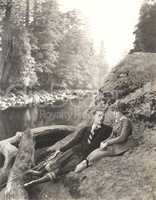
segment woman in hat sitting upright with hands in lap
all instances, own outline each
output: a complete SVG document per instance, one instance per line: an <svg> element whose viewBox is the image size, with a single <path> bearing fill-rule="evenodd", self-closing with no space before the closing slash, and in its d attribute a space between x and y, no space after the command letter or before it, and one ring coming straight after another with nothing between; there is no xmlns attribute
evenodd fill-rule
<svg viewBox="0 0 156 200"><path fill-rule="evenodd" d="M132 141L129 137L132 134L132 124L124 115L125 110L126 104L124 103L117 102L115 106L112 107L115 120L111 136L101 142L100 147L91 152L87 159L78 164L75 172L82 171L103 157L122 155L129 149L131 146L130 141Z"/></svg>

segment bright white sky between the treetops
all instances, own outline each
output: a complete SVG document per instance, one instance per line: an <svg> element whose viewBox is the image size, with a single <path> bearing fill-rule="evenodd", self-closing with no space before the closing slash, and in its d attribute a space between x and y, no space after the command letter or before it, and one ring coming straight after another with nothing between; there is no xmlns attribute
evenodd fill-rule
<svg viewBox="0 0 156 200"><path fill-rule="evenodd" d="M64 11L78 9L87 18L98 51L101 41L105 59L115 66L133 47L133 31L143 0L59 0Z"/></svg>

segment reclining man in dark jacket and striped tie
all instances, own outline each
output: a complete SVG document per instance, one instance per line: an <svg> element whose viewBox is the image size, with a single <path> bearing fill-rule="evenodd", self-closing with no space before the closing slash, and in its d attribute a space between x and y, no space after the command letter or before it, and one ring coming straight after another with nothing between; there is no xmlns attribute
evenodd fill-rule
<svg viewBox="0 0 156 200"><path fill-rule="evenodd" d="M41 178L26 183L25 187L52 181L61 175L74 171L82 160L98 148L101 141L108 138L112 131L111 127L103 124L105 110L101 107L96 108L92 125L83 127L74 139L57 150L58 158L55 162L51 159L42 170L31 170L32 174Z"/></svg>

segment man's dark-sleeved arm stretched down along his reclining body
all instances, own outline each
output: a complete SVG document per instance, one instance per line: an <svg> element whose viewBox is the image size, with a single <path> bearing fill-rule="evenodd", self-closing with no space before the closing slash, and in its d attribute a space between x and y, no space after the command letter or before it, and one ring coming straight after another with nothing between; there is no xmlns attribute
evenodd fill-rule
<svg viewBox="0 0 156 200"><path fill-rule="evenodd" d="M61 152L65 152L66 150L72 148L74 145L78 144L79 142L81 142L81 139L83 137L84 131L86 131L86 127L82 128L80 131L78 131L78 133L76 134L76 136L70 141L68 142L65 146L60 148Z"/></svg>

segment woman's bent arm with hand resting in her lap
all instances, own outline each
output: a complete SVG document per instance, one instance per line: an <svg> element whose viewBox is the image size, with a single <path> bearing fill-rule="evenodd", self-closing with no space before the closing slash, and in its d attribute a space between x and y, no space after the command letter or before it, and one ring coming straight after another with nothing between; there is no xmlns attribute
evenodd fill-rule
<svg viewBox="0 0 156 200"><path fill-rule="evenodd" d="M130 133L130 123L128 119L123 119L121 121L121 134L120 136L116 138L109 139L107 142L107 145L112 145L112 144L118 144L121 142L124 142Z"/></svg>

